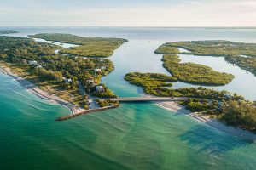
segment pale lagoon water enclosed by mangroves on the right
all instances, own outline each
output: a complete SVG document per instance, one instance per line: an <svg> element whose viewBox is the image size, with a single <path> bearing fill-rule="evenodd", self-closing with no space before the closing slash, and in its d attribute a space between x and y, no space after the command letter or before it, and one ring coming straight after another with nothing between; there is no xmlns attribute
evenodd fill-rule
<svg viewBox="0 0 256 170"><path fill-rule="evenodd" d="M233 74L235 78L229 84L225 86L211 87L217 90L228 90L232 93L241 94L246 99L256 100L256 77L253 73L241 70L236 65L227 63L224 57L211 57L211 56L195 56L195 55L179 55L182 59L182 63L193 62L201 65L207 65L212 67L215 71L226 72ZM184 82L173 83L172 88L184 88L184 87L198 87L195 85L190 85Z"/></svg>

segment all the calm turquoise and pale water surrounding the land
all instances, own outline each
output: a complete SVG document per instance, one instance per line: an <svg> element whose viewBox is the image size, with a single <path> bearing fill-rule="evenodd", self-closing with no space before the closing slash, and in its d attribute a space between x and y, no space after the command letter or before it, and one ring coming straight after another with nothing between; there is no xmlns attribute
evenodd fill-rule
<svg viewBox="0 0 256 170"><path fill-rule="evenodd" d="M180 28L14 28L16 36L65 32L129 40L113 56L115 70L104 77L119 96L142 95L124 81L130 71L166 70L154 50L163 42L225 39L256 42L256 30ZM223 58L182 55L183 62L202 63L235 79L227 89L256 100L252 74ZM174 88L188 87L177 82ZM166 111L154 104L125 104L118 109L54 122L68 110L30 94L0 74L1 169L254 169L256 144Z"/></svg>

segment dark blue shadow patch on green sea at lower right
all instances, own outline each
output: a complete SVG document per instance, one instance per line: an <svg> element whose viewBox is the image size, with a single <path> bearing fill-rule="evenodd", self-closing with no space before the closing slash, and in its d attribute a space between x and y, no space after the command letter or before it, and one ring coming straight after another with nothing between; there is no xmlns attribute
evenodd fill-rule
<svg viewBox="0 0 256 170"><path fill-rule="evenodd" d="M183 142L197 148L198 152L221 154L238 147L245 147L253 142L238 139L227 133L218 132L205 125L197 125L179 136Z"/></svg>

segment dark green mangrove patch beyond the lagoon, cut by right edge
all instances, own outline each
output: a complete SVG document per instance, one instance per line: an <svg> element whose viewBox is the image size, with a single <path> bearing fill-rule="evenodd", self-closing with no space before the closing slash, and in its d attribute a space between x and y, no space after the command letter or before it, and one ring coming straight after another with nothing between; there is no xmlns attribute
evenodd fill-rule
<svg viewBox="0 0 256 170"><path fill-rule="evenodd" d="M227 62L238 65L241 69L252 72L256 76L256 58L242 57L240 55L227 55L224 58Z"/></svg>

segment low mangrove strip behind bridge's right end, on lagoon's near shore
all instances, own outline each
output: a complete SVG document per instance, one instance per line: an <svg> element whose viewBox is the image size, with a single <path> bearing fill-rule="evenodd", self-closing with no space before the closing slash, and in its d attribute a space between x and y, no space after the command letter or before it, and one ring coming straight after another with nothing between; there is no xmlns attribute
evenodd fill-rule
<svg viewBox="0 0 256 170"><path fill-rule="evenodd" d="M163 97L189 97L199 99L243 99L237 94L226 91L216 91L208 88L177 88L171 89L171 82L177 82L177 78L157 73L131 72L125 75L125 80L131 84L142 87L147 94Z"/></svg>

